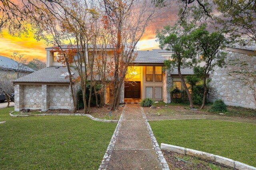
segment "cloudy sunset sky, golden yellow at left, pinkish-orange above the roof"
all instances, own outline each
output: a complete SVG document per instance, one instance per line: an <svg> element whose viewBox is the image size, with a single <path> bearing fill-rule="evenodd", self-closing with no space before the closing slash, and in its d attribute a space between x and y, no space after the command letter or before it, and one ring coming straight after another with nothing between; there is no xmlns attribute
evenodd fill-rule
<svg viewBox="0 0 256 170"><path fill-rule="evenodd" d="M138 42L137 50L158 49L158 43L155 41L156 30L162 29L164 25L173 25L177 20L176 13L177 10L170 7L166 13L162 14L154 22L151 22ZM20 55L28 58L28 61L38 58L45 62L46 47L48 46L44 41L36 41L32 33L26 37L13 37L8 34L8 31L4 30L2 35L0 35L0 55L4 57L11 57L14 52L18 52Z"/></svg>

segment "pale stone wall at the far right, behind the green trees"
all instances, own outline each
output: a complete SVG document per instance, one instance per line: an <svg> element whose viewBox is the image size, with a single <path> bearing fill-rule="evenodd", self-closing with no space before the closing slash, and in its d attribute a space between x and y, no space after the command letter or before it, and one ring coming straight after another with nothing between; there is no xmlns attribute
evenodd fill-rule
<svg viewBox="0 0 256 170"><path fill-rule="evenodd" d="M246 61L249 70L256 70L256 57L248 56L242 53L229 52L228 59L239 59ZM243 85L242 80L229 76L228 73L239 70L236 66L227 66L226 68L216 68L210 74L212 81L210 82L209 100L213 102L222 99L227 105L242 106L248 108L256 108L256 102L251 90Z"/></svg>

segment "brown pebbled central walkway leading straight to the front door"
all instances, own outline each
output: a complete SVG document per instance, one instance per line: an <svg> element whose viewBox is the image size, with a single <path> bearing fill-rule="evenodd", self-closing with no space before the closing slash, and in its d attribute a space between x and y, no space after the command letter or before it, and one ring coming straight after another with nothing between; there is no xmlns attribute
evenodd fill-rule
<svg viewBox="0 0 256 170"><path fill-rule="evenodd" d="M109 170L161 170L138 104L126 104Z"/></svg>

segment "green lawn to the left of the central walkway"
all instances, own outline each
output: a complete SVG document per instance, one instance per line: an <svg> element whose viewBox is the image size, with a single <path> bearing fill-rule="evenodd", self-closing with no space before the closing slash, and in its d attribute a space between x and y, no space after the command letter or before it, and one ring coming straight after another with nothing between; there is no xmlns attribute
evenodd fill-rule
<svg viewBox="0 0 256 170"><path fill-rule="evenodd" d="M84 116L10 117L0 109L0 169L98 169L116 124Z"/></svg>

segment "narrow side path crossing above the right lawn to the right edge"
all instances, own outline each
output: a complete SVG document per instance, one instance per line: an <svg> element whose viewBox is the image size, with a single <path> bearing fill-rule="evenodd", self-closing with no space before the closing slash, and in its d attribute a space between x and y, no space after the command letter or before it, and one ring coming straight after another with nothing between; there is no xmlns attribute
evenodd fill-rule
<svg viewBox="0 0 256 170"><path fill-rule="evenodd" d="M147 119L148 119L148 121L209 119L209 120L232 121L232 122L256 124L256 120L254 120L254 119L243 119L243 118L218 116L218 115L149 116L149 117L147 117Z"/></svg>

